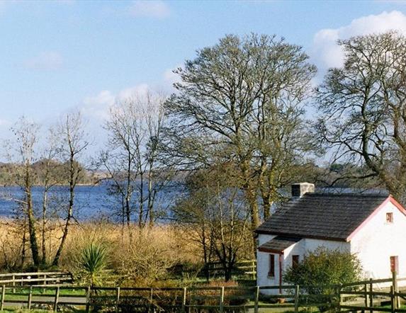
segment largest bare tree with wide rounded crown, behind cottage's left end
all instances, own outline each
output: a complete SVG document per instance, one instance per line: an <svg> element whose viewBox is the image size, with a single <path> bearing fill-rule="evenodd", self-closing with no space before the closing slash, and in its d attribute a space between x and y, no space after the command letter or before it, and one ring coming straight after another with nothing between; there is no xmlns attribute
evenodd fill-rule
<svg viewBox="0 0 406 313"><path fill-rule="evenodd" d="M302 48L268 35L227 35L197 52L167 101L171 160L190 169L232 162L252 228L288 181L303 149L303 101L316 69ZM183 162L183 163L182 163Z"/></svg>

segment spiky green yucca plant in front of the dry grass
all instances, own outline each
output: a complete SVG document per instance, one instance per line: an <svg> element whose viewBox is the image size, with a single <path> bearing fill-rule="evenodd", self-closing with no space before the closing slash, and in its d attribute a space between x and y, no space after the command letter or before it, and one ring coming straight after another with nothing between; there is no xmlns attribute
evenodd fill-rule
<svg viewBox="0 0 406 313"><path fill-rule="evenodd" d="M106 248L101 244L91 243L79 255L79 267L93 287L98 284L98 278L107 266Z"/></svg>

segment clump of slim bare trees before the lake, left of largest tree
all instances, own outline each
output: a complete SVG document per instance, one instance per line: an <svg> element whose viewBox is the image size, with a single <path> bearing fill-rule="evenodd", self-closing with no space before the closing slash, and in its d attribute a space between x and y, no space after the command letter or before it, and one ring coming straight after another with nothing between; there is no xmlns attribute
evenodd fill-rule
<svg viewBox="0 0 406 313"><path fill-rule="evenodd" d="M108 149L101 166L108 171L111 191L118 196L123 224L154 224L158 191L168 181L160 169L159 149L165 115L165 96L148 91L116 103L105 128Z"/></svg>

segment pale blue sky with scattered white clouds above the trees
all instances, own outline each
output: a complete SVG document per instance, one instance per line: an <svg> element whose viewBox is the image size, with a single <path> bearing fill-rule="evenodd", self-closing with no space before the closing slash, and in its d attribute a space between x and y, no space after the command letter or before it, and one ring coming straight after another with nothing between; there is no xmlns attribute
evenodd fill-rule
<svg viewBox="0 0 406 313"><path fill-rule="evenodd" d="M79 109L97 147L116 99L170 93L171 70L226 34L303 46L317 84L338 39L391 29L406 34L406 1L0 0L0 140L22 115L47 127Z"/></svg>

